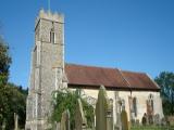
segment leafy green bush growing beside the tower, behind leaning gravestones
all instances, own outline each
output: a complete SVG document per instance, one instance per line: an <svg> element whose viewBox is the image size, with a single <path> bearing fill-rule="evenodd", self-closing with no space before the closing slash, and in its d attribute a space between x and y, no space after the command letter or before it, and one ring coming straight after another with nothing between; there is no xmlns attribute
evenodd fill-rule
<svg viewBox="0 0 174 130"><path fill-rule="evenodd" d="M54 108L53 108L51 121L53 121L53 122L61 121L62 113L65 109L69 109L70 116L71 116L71 118L70 118L71 129L74 129L75 120L73 117L75 116L75 107L76 107L76 103L77 103L78 98L82 100L83 108L86 113L88 127L91 127L92 122L94 122L94 108L90 104L88 104L84 99L80 98L79 90L70 91L67 89L64 89L62 91L55 91L53 93Z"/></svg>

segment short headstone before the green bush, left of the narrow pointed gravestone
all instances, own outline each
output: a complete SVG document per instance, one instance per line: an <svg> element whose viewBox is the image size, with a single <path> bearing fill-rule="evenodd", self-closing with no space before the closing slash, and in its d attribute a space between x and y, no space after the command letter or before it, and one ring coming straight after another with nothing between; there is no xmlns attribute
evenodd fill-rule
<svg viewBox="0 0 174 130"><path fill-rule="evenodd" d="M61 130L70 130L70 112L69 109L64 110L61 118ZM58 126L57 126L58 129Z"/></svg>

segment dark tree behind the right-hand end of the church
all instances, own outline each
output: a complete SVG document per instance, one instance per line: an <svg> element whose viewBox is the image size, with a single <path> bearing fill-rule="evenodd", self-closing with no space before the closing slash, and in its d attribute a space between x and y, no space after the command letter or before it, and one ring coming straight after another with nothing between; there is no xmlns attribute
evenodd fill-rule
<svg viewBox="0 0 174 130"><path fill-rule="evenodd" d="M161 88L164 114L174 115L174 73L162 72L154 80Z"/></svg>

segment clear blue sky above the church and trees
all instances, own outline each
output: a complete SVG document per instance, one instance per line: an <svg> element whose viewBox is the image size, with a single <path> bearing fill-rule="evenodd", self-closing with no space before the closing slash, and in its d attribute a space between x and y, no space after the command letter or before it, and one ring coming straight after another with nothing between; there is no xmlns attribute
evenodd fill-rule
<svg viewBox="0 0 174 130"><path fill-rule="evenodd" d="M174 0L50 0L65 15L65 62L174 72ZM10 81L28 87L35 18L48 0L1 0L0 34L10 46Z"/></svg>

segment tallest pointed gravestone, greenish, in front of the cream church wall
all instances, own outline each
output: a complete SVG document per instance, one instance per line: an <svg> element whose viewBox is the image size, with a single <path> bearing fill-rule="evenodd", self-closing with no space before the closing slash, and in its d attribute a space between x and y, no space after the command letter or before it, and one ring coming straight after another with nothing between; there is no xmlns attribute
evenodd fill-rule
<svg viewBox="0 0 174 130"><path fill-rule="evenodd" d="M103 86L100 87L96 104L96 130L113 130L113 104Z"/></svg>

